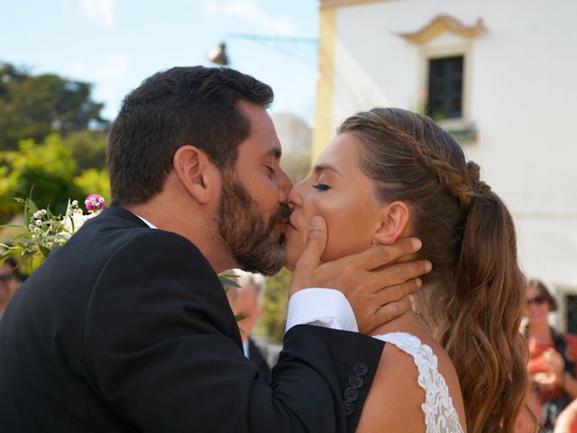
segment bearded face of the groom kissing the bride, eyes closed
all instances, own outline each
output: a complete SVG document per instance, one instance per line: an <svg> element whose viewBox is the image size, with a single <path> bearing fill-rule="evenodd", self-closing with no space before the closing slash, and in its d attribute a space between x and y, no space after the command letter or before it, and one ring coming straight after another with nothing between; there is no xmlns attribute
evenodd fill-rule
<svg viewBox="0 0 577 433"><path fill-rule="evenodd" d="M287 197L292 182L280 169L280 143L270 116L261 106L240 102L251 122L223 188L215 225L243 270L273 275L285 261Z"/></svg>

